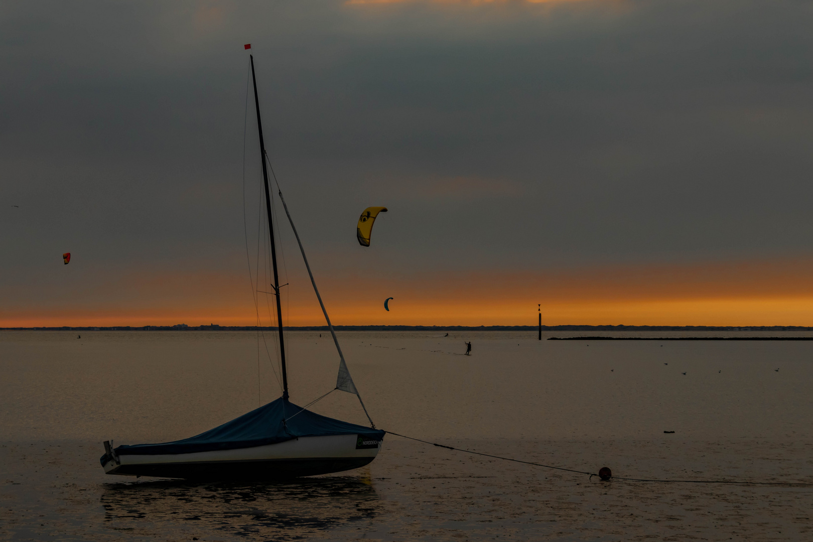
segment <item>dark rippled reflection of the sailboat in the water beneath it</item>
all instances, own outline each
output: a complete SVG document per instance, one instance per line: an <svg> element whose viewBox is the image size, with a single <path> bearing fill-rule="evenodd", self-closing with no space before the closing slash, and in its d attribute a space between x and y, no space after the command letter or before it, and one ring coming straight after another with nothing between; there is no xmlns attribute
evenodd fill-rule
<svg viewBox="0 0 813 542"><path fill-rule="evenodd" d="M368 475L325 476L285 483L189 483L158 480L106 484L105 522L201 522L203 529L275 540L366 524L380 513ZM141 521L139 521L141 522Z"/></svg>

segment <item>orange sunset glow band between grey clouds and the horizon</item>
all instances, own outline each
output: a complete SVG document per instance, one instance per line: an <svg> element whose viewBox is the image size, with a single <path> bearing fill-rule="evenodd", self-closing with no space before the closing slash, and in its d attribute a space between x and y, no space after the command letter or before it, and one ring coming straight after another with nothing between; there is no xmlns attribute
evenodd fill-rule
<svg viewBox="0 0 813 542"><path fill-rule="evenodd" d="M389 275L334 273L320 288L335 325L813 326L813 259L607 266L544 272ZM0 309L0 327L254 326L257 315L239 275L139 273L130 297L72 306ZM129 284L133 280L125 278ZM285 326L322 326L307 277L291 276ZM95 291L101 288L89 287ZM110 291L117 284L107 287ZM206 293L202 297L201 293ZM287 295L287 294L286 294ZM85 293L77 297L89 298ZM272 296L261 297L263 326L276 325ZM390 311L384 310L384 300Z"/></svg>

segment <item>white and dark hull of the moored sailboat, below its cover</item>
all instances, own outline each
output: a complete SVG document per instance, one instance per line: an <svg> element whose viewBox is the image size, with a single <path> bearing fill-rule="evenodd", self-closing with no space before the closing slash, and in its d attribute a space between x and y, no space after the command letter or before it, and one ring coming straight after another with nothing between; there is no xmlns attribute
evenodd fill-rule
<svg viewBox="0 0 813 542"><path fill-rule="evenodd" d="M360 446L360 447L359 447ZM359 435L304 436L251 448L176 454L106 456L108 475L183 479L289 479L357 469L376 458L381 443Z"/></svg>

